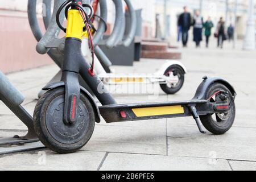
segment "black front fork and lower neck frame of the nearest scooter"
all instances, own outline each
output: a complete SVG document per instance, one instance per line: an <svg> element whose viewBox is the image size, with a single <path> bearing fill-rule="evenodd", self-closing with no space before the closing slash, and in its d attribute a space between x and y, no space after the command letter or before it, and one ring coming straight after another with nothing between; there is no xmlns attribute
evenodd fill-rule
<svg viewBox="0 0 256 182"><path fill-rule="evenodd" d="M64 122L73 123L77 119L80 100L79 74L102 105L116 104L112 95L96 74L89 73L90 65L82 56L81 40L66 38L61 81L65 83Z"/></svg>

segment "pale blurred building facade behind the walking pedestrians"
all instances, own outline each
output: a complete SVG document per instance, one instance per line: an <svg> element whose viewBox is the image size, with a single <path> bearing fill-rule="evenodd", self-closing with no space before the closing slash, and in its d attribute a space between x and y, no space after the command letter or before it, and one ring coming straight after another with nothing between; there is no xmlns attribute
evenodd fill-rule
<svg viewBox="0 0 256 182"><path fill-rule="evenodd" d="M155 13L160 14L164 27L164 8L167 7L166 14L170 16L170 28L167 31L171 36L176 36L177 17L183 12L183 7L187 6L192 15L195 10L201 10L204 19L210 16L214 24L217 24L220 17L224 18L226 26L236 24L237 36L242 39L246 31L247 5L247 0L158 0L155 1Z"/></svg>

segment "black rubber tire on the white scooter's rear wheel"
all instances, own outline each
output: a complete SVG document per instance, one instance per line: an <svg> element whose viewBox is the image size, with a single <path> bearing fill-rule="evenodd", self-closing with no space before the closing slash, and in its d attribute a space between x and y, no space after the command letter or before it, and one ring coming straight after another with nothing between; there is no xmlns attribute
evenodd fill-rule
<svg viewBox="0 0 256 182"><path fill-rule="evenodd" d="M179 92L184 84L184 70L179 65L171 65L166 69L164 75L169 76L170 72L173 72L174 76L179 78L179 82L176 85L160 84L160 88L167 94L175 94Z"/></svg>

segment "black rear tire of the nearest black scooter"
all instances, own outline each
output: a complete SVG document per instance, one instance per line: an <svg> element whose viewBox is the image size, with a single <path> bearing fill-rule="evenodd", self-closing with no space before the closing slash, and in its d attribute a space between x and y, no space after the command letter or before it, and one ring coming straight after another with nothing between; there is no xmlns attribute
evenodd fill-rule
<svg viewBox="0 0 256 182"><path fill-rule="evenodd" d="M232 93L228 88L226 88L225 85L220 83L213 83L209 86L207 93L205 95L205 99L207 100L210 96L212 96L214 93L216 93L218 90L224 90L225 92L228 92L228 102L229 102L229 111L224 114L208 114L208 115L201 115L200 119L203 123L205 129L210 131L210 133L220 135L226 133L228 131L233 123L234 118L236 115L236 106L234 104L234 99L232 96ZM216 97L218 97L216 95ZM212 98L209 102L215 102ZM214 117L216 119L214 119Z"/></svg>

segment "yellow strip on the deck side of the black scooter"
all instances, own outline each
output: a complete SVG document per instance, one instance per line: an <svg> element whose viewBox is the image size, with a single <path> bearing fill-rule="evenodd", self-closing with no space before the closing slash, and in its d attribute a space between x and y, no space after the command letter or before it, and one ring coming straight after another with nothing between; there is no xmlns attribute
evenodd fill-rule
<svg viewBox="0 0 256 182"><path fill-rule="evenodd" d="M184 108L179 106L162 106L162 107L144 107L135 108L133 110L137 117L146 117L153 115L167 115L167 114L183 114Z"/></svg>

